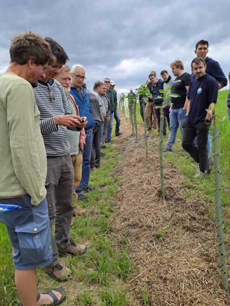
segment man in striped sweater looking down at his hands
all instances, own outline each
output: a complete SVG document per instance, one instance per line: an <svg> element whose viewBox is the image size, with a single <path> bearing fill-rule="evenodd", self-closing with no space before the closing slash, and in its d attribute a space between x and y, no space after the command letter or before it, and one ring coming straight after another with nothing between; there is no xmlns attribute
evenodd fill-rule
<svg viewBox="0 0 230 306"><path fill-rule="evenodd" d="M55 237L52 236L53 262L45 267L45 272L57 281L68 278L71 270L58 261L58 253L75 255L84 253L86 246L76 244L70 237L70 226L74 207L74 168L70 156L67 127L78 127L84 124L82 118L72 115L68 107L63 87L54 80L59 69L68 60L68 56L52 38L45 38L55 62L48 66L45 78L39 78L34 89L36 104L40 111L40 129L47 153L47 201L50 225L55 226Z"/></svg>

